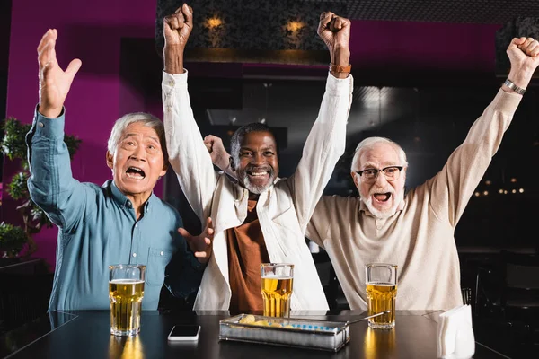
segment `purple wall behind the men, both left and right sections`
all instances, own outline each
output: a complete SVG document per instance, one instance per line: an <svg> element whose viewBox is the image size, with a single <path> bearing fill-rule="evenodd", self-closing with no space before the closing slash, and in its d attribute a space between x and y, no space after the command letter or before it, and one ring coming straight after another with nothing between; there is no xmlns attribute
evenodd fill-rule
<svg viewBox="0 0 539 359"><path fill-rule="evenodd" d="M494 38L499 27L354 22L352 64L358 73L384 67L493 72ZM114 120L128 111L138 110L162 116L159 107L146 105L142 96L119 77L120 39L154 38L155 1L13 1L7 116L23 122L31 122L38 101L36 47L49 28L58 31L60 66L66 67L74 57L83 61L66 101L66 133L83 140L75 155L73 174L78 180L101 184L110 179L105 152ZM360 81L357 76L356 84L360 85ZM13 163L5 163L4 182L11 178L13 171ZM161 195L160 184L155 192ZM19 220L13 201L5 194L3 217L7 222ZM44 230L36 236L39 245L36 255L47 258L53 267L56 238L56 229Z"/></svg>

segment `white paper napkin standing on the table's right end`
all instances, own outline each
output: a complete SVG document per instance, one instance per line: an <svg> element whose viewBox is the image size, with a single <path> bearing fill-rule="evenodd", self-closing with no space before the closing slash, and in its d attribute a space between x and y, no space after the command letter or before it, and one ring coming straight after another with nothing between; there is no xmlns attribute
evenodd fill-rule
<svg viewBox="0 0 539 359"><path fill-rule="evenodd" d="M440 314L437 326L437 357L467 359L475 353L472 308L459 305Z"/></svg>

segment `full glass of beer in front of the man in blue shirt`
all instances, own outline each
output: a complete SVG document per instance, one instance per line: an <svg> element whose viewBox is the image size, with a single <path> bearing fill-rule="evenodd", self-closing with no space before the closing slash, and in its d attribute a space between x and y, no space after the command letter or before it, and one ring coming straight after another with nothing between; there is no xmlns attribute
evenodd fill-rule
<svg viewBox="0 0 539 359"><path fill-rule="evenodd" d="M146 266L109 266L110 334L134 336L140 331Z"/></svg>

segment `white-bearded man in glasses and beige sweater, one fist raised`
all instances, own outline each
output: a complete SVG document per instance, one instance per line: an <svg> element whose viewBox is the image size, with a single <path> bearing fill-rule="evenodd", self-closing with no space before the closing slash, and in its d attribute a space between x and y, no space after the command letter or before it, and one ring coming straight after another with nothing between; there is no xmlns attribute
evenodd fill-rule
<svg viewBox="0 0 539 359"><path fill-rule="evenodd" d="M367 309L369 263L397 265L397 310L448 310L463 303L455 226L539 66L539 43L512 39L507 54L508 80L436 176L405 194L406 153L387 138L368 137L356 147L350 168L359 197L319 201L305 235L328 252L350 309ZM208 137L215 143L214 163L225 169L222 141Z"/></svg>

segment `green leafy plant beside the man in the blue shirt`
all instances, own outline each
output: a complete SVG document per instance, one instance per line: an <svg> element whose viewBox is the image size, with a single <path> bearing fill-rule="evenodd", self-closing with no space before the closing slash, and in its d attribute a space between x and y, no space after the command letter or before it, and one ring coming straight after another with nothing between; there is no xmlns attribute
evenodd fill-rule
<svg viewBox="0 0 539 359"><path fill-rule="evenodd" d="M36 206L30 198L28 193L28 187L26 181L30 177L28 160L26 158L26 142L25 136L30 131L31 124L22 124L16 118L5 118L0 122L0 127L4 130L4 138L2 139L1 146L4 156L6 156L10 161L19 161L21 171L14 174L11 182L7 185L6 193L12 197L14 200L20 201L21 205L17 206L17 211L22 215L22 222L24 223L24 228L18 226L13 226L12 224L2 223L2 233L6 239L5 243L13 243L13 249L10 254L13 256L18 254L22 247L19 248L20 233L22 232L25 235L25 242L28 244L28 250L26 251L27 255L35 252L37 250L35 242L32 240L32 235L40 232L43 226L51 227L52 223L49 221L49 217L41 210L39 206ZM69 151L69 156L73 160L73 156L79 148L81 140L75 136L66 135L64 136L64 141L67 145L67 150ZM7 234L8 232L12 234ZM0 250L5 250L3 237L0 237L0 242L3 244L0 245Z"/></svg>

